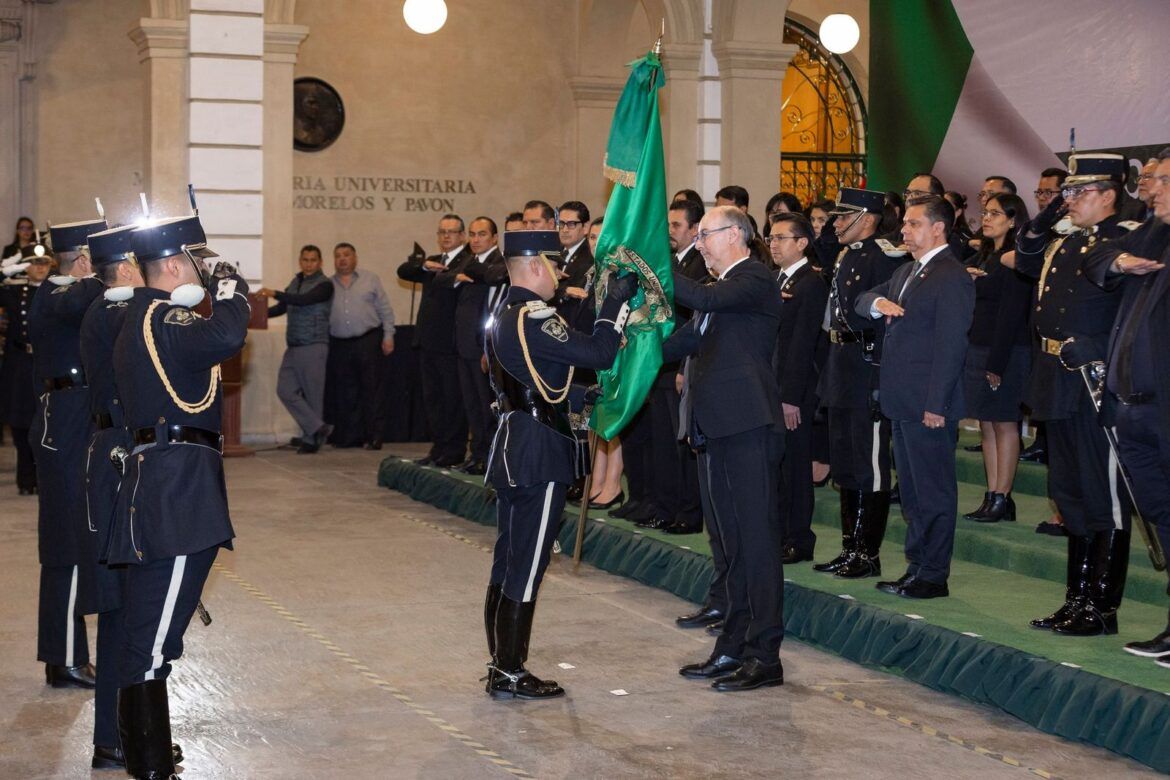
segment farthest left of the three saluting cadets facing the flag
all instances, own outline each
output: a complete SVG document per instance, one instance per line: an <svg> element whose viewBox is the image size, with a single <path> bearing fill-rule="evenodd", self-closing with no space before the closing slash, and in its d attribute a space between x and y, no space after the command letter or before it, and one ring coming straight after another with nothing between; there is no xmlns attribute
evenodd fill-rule
<svg viewBox="0 0 1170 780"><path fill-rule="evenodd" d="M90 274L85 239L104 220L49 228L58 263L33 296L28 330L40 393L29 432L39 486L41 599L37 658L54 688L94 688L83 615L95 612L97 555L85 517L85 451L92 424L81 365L81 320L102 283Z"/></svg>

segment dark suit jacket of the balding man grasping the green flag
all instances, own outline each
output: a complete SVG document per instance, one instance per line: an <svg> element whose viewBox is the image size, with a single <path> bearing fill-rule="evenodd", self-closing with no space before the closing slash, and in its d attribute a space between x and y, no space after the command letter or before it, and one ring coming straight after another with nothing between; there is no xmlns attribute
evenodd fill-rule
<svg viewBox="0 0 1170 780"><path fill-rule="evenodd" d="M780 389L772 353L780 329L776 277L750 258L715 284L674 275L675 298L696 315L662 345L663 360L689 361L687 401L680 409L691 444L763 426L782 426ZM707 320L707 331L701 333Z"/></svg>

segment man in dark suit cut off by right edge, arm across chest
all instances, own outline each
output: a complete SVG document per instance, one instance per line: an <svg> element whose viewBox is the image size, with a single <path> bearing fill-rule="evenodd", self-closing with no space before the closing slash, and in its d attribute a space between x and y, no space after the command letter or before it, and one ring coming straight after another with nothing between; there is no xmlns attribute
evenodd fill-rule
<svg viewBox="0 0 1170 780"><path fill-rule="evenodd" d="M1170 147L1157 157L1149 187L1154 216L1133 233L1092 249L1085 274L1106 290L1119 285L1121 306L1109 336L1102 423L1116 426L1142 518L1170 551ZM1170 622L1126 651L1170 668Z"/></svg>

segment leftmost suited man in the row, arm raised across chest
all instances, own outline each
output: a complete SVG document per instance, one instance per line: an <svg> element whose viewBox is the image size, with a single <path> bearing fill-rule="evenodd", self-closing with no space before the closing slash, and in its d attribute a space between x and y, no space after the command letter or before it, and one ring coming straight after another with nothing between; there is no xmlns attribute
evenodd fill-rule
<svg viewBox="0 0 1170 780"><path fill-rule="evenodd" d="M398 267L398 277L422 285L419 318L414 324L414 346L419 348L422 401L434 443L419 463L457 465L467 453L467 416L459 391L459 353L455 351L455 309L459 290L436 284L439 274L459 268L470 250L464 244L463 220L443 214L439 220L439 254L411 256Z"/></svg>

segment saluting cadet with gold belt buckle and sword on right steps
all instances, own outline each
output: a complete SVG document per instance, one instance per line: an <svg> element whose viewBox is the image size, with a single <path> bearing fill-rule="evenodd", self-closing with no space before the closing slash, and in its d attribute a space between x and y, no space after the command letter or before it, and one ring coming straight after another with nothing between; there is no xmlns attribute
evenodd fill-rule
<svg viewBox="0 0 1170 780"><path fill-rule="evenodd" d="M1039 350L1026 402L1048 434L1048 495L1068 533L1065 603L1034 628L1092 636L1117 633L1117 607L1129 565L1130 508L1117 463L1080 372L1060 360L1076 339L1104 359L1121 291L1085 275L1088 253L1129 230L1117 218L1127 163L1120 154L1073 154L1062 198L1055 198L1017 239L1016 270L1039 279L1032 323ZM1049 241L1067 208L1071 235Z"/></svg>

